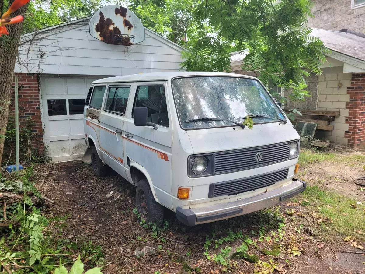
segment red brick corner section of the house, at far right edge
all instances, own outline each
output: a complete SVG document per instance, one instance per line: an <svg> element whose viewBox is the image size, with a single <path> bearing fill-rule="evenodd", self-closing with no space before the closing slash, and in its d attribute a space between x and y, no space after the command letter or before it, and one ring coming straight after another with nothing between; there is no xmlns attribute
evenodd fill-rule
<svg viewBox="0 0 365 274"><path fill-rule="evenodd" d="M345 132L348 145L351 148L365 146L365 73L352 74L351 85L347 87L350 102L346 103L349 115L346 124L349 129Z"/></svg>

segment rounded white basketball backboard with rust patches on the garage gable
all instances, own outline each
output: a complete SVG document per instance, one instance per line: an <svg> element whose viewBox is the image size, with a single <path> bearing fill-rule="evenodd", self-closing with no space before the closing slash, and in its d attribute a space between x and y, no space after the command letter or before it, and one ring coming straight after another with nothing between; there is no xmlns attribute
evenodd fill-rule
<svg viewBox="0 0 365 274"><path fill-rule="evenodd" d="M122 6L106 6L95 12L89 31L92 37L111 45L131 46L145 40L141 20Z"/></svg>

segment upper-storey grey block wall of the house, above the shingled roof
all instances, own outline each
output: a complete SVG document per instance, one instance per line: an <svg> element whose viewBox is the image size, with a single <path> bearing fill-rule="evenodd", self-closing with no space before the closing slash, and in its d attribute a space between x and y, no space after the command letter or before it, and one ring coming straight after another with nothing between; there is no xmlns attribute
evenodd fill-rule
<svg viewBox="0 0 365 274"><path fill-rule="evenodd" d="M365 7L351 9L351 0L313 0L308 25L325 30L347 28L365 34Z"/></svg>

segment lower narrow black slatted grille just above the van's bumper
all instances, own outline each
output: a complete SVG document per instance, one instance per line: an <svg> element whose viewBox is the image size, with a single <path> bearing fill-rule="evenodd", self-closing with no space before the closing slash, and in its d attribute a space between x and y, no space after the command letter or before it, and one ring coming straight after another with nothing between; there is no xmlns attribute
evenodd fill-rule
<svg viewBox="0 0 365 274"><path fill-rule="evenodd" d="M268 187L276 182L280 182L288 178L289 168L278 170L258 176L251 176L238 180L227 182L213 183L209 185L208 197L217 197L222 195L234 195L251 190Z"/></svg>

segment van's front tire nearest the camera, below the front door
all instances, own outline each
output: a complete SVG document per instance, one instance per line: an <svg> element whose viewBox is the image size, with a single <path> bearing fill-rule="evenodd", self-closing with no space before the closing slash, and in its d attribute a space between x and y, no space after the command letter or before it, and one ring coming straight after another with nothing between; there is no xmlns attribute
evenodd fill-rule
<svg viewBox="0 0 365 274"><path fill-rule="evenodd" d="M150 185L147 179L138 182L136 190L136 207L141 219L148 225L156 223L157 227L164 221L164 208L153 197Z"/></svg>

